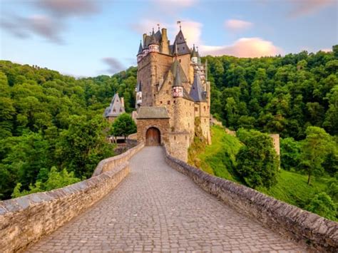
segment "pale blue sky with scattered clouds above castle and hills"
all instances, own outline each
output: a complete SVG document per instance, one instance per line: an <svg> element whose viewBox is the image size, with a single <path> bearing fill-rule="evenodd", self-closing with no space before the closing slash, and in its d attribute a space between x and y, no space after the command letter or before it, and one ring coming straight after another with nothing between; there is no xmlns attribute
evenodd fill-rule
<svg viewBox="0 0 338 253"><path fill-rule="evenodd" d="M202 56L275 56L338 44L338 0L0 0L0 58L75 76L136 66L143 33L181 21Z"/></svg>

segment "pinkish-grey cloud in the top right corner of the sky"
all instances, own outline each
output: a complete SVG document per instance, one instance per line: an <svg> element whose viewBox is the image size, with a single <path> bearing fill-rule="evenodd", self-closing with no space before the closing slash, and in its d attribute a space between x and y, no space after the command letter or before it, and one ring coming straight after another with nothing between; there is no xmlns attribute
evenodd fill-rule
<svg viewBox="0 0 338 253"><path fill-rule="evenodd" d="M289 0L293 4L293 10L290 12L290 17L306 16L312 14L327 6L336 5L335 0Z"/></svg>

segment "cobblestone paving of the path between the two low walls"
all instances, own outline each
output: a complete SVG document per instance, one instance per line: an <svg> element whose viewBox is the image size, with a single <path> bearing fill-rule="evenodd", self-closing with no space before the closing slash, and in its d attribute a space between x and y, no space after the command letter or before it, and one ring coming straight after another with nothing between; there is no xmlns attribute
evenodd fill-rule
<svg viewBox="0 0 338 253"><path fill-rule="evenodd" d="M103 200L27 252L306 252L173 170L160 147L140 150L130 169Z"/></svg>

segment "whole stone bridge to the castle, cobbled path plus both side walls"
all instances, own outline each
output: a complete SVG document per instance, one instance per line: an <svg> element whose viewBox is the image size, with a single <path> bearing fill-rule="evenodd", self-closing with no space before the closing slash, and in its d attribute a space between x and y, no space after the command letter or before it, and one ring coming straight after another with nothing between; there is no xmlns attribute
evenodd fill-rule
<svg viewBox="0 0 338 253"><path fill-rule="evenodd" d="M242 185L206 175L171 158L160 146L134 149L136 151L126 157L128 166L126 159L120 161L122 167L128 170L130 167L130 173L114 190L107 190L101 200L83 212L77 209L81 202L101 197L73 199L73 203L68 203L67 208L82 212L80 215L65 210L58 213L51 204L46 213L42 207L34 212L32 197L26 209L22 201L7 200L0 204L0 215L3 215L0 223L4 222L0 225L1 249L5 252L18 249L26 252L308 252L314 249L334 252L337 249L335 222ZM114 166L118 163L115 160ZM104 164L98 165L96 175L100 177L106 170L111 171ZM123 169L120 167L118 171L121 173ZM94 195L97 191L96 187ZM67 192L76 195L76 190L66 191L66 195ZM87 193L90 195L91 191ZM233 197L234 194L237 197ZM58 193L57 198L62 197L65 196ZM261 204L262 198L265 205ZM36 202L48 201L57 202L47 198ZM21 208L10 208L14 204ZM66 202L61 202L58 209L65 205ZM278 211L276 205L283 210L287 208L283 211L286 213ZM1 212L1 208L4 211ZM27 209L31 209L30 213ZM49 214L49 218L42 228L29 232L24 224L31 222L29 226L34 227L41 219L38 210L41 216ZM20 212L24 215L18 215ZM63 217L65 214L68 217ZM34 219L31 215L35 215ZM58 216L60 224L50 225ZM25 221L24 217L31 220ZM74 218L70 220L71 217ZM51 229L44 231L43 226ZM25 229L28 232L24 232ZM34 231L39 236L32 236ZM18 236L19 239L14 238Z"/></svg>

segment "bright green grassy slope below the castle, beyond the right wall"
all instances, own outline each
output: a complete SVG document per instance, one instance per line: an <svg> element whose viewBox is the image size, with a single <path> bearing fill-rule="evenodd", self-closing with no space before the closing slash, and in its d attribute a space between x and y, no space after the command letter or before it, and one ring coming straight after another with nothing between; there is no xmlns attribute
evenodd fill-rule
<svg viewBox="0 0 338 253"><path fill-rule="evenodd" d="M211 136L212 144L195 152L198 165L193 165L217 177L242 183L240 178L236 177L235 172L235 155L242 143L235 136L225 133L225 129L220 126L212 126ZM260 187L257 190L301 208L304 208L314 195L324 192L327 188L325 178L312 180L311 185L307 185L306 175L286 170L280 170L277 181L277 185L270 189Z"/></svg>

